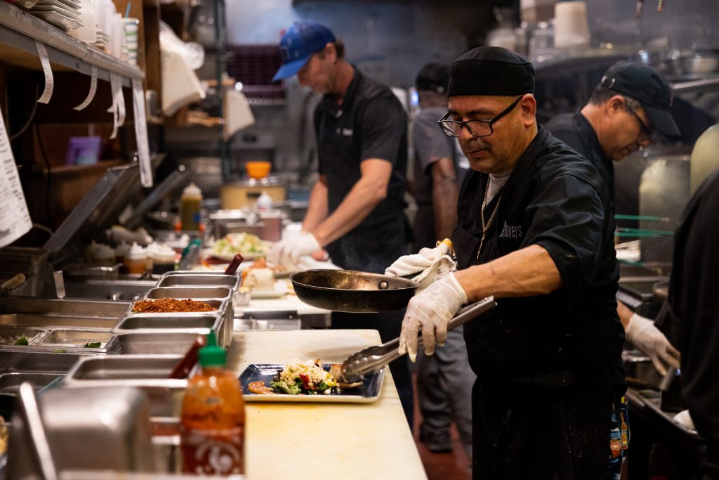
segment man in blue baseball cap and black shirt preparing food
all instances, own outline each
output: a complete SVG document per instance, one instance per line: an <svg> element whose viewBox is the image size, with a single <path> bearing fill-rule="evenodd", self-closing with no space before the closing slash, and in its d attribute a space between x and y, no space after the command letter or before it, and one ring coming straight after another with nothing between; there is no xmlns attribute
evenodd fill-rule
<svg viewBox="0 0 719 480"><path fill-rule="evenodd" d="M327 250L348 270L383 273L407 253L411 228L406 203L407 115L393 92L344 58L344 44L316 22L296 22L280 40L275 80L297 75L323 97L314 112L319 178L298 237L273 246L268 259L290 269L303 256ZM332 326L372 328L397 338L403 310L378 314L334 312ZM406 358L390 363L402 406L412 416ZM410 425L412 422L410 421Z"/></svg>

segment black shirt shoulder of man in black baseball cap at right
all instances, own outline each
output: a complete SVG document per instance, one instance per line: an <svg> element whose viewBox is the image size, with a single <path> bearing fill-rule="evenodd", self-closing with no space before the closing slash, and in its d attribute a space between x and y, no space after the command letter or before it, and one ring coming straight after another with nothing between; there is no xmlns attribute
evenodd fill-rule
<svg viewBox="0 0 719 480"><path fill-rule="evenodd" d="M561 114L546 122L544 128L592 162L609 189L614 212L614 164L605 155L589 120L580 112Z"/></svg>

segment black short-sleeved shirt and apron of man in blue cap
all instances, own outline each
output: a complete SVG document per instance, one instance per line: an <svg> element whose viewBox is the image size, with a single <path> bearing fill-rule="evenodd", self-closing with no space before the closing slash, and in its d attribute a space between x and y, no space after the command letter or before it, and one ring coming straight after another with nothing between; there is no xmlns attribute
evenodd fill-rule
<svg viewBox="0 0 719 480"><path fill-rule="evenodd" d="M319 173L326 176L329 189L329 213L359 181L363 160L382 158L393 164L387 197L357 227L326 247L343 268L383 273L406 253L411 240L403 199L407 115L388 87L354 68L342 105L334 96L324 96L315 110L314 126Z"/></svg>

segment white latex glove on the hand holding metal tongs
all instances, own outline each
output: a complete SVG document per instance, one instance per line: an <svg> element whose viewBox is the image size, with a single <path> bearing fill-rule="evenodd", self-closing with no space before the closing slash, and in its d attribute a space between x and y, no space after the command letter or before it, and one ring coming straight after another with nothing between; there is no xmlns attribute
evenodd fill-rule
<svg viewBox="0 0 719 480"><path fill-rule="evenodd" d="M434 353L435 342L440 346L444 345L444 340L447 338L447 323L465 303L467 303L467 294L454 278L454 273L449 273L413 296L402 321L400 355L408 353L410 360L415 361L419 330L422 331L424 353L427 355Z"/></svg>

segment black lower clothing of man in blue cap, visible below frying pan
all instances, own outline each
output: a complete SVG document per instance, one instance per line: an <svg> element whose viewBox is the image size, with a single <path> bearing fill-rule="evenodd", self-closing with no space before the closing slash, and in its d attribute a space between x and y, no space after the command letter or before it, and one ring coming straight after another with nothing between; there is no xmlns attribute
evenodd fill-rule
<svg viewBox="0 0 719 480"><path fill-rule="evenodd" d="M380 338L385 343L400 336L405 311L406 309L380 313L332 312L332 328L379 330ZM392 371L392 378L395 380L400 402L411 429L414 419L414 398L407 356L402 356L390 363L390 371Z"/></svg>

